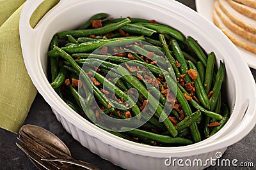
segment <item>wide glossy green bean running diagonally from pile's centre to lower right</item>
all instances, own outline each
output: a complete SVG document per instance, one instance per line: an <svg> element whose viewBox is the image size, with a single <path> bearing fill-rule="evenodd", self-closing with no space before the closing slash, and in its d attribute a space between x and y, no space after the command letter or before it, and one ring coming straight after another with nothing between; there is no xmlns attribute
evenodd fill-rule
<svg viewBox="0 0 256 170"><path fill-rule="evenodd" d="M163 111L163 108L159 106L159 102L152 96L150 93L148 93L148 90L145 89L145 87L140 83L140 81L129 74L129 71L127 71L124 67L118 66L116 68L116 71L118 71L120 74L122 74L123 78L127 80L131 85L138 90L141 94L143 94L144 97L148 99L148 101L151 101L149 104L153 107L156 108L156 114L161 117L161 120L163 120L164 125L166 125L168 131L172 136L177 136L178 132L175 129L174 125L172 122L168 119L166 113Z"/></svg>

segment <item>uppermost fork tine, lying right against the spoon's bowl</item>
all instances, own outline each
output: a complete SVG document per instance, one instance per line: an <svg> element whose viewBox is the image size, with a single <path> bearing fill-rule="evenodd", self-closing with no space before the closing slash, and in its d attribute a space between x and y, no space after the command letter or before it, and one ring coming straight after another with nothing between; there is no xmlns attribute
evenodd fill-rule
<svg viewBox="0 0 256 170"><path fill-rule="evenodd" d="M29 139L29 141L31 141L32 143L36 143L36 144L42 146L42 148L44 148L44 149L46 148L47 150L49 150L49 152L54 153L54 155L56 153L56 154L60 155L61 157L65 158L65 159L70 159L70 155L67 155L66 153L61 152L60 150L52 147L51 145L48 145L44 141L36 138L36 136L33 136L33 135L29 134L29 132L27 132L27 131L24 131L24 129L22 129L22 132L24 132L24 134L26 134L27 139ZM23 134L20 134L20 135L24 137Z"/></svg>

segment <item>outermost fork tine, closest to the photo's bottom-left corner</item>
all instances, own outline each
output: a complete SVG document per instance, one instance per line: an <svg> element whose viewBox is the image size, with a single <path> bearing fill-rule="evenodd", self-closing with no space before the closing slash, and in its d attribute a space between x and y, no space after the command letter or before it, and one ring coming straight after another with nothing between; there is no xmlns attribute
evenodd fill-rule
<svg viewBox="0 0 256 170"><path fill-rule="evenodd" d="M18 143L16 143L16 145L20 148L20 150L22 150L22 152L26 153L26 155L31 160L35 161L37 164L39 164L40 166L44 167L45 169L58 169L58 170L60 170L60 167L54 166L51 162L44 162L41 159L38 159L38 158L36 159L35 157L37 157L37 155L34 155L33 153L29 153L28 152L29 148L28 148L28 150L26 150L23 146L19 145Z"/></svg>

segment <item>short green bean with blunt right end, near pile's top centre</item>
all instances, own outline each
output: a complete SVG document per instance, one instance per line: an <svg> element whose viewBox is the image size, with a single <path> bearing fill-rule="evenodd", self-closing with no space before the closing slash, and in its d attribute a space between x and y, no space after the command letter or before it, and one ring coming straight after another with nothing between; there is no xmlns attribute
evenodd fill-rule
<svg viewBox="0 0 256 170"><path fill-rule="evenodd" d="M152 36L156 31L153 29L148 29L147 27L143 27L142 25L136 24L127 24L120 29L124 30L125 32L133 33L133 34L143 34L145 36Z"/></svg>

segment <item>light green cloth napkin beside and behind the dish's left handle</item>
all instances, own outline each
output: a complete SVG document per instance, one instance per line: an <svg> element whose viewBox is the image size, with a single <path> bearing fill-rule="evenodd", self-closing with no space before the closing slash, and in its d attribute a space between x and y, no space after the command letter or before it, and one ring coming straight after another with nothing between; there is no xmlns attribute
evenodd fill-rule
<svg viewBox="0 0 256 170"><path fill-rule="evenodd" d="M0 127L15 133L24 123L36 96L19 38L19 17L25 1L0 0ZM44 1L31 17L31 25L36 25L58 1Z"/></svg>

